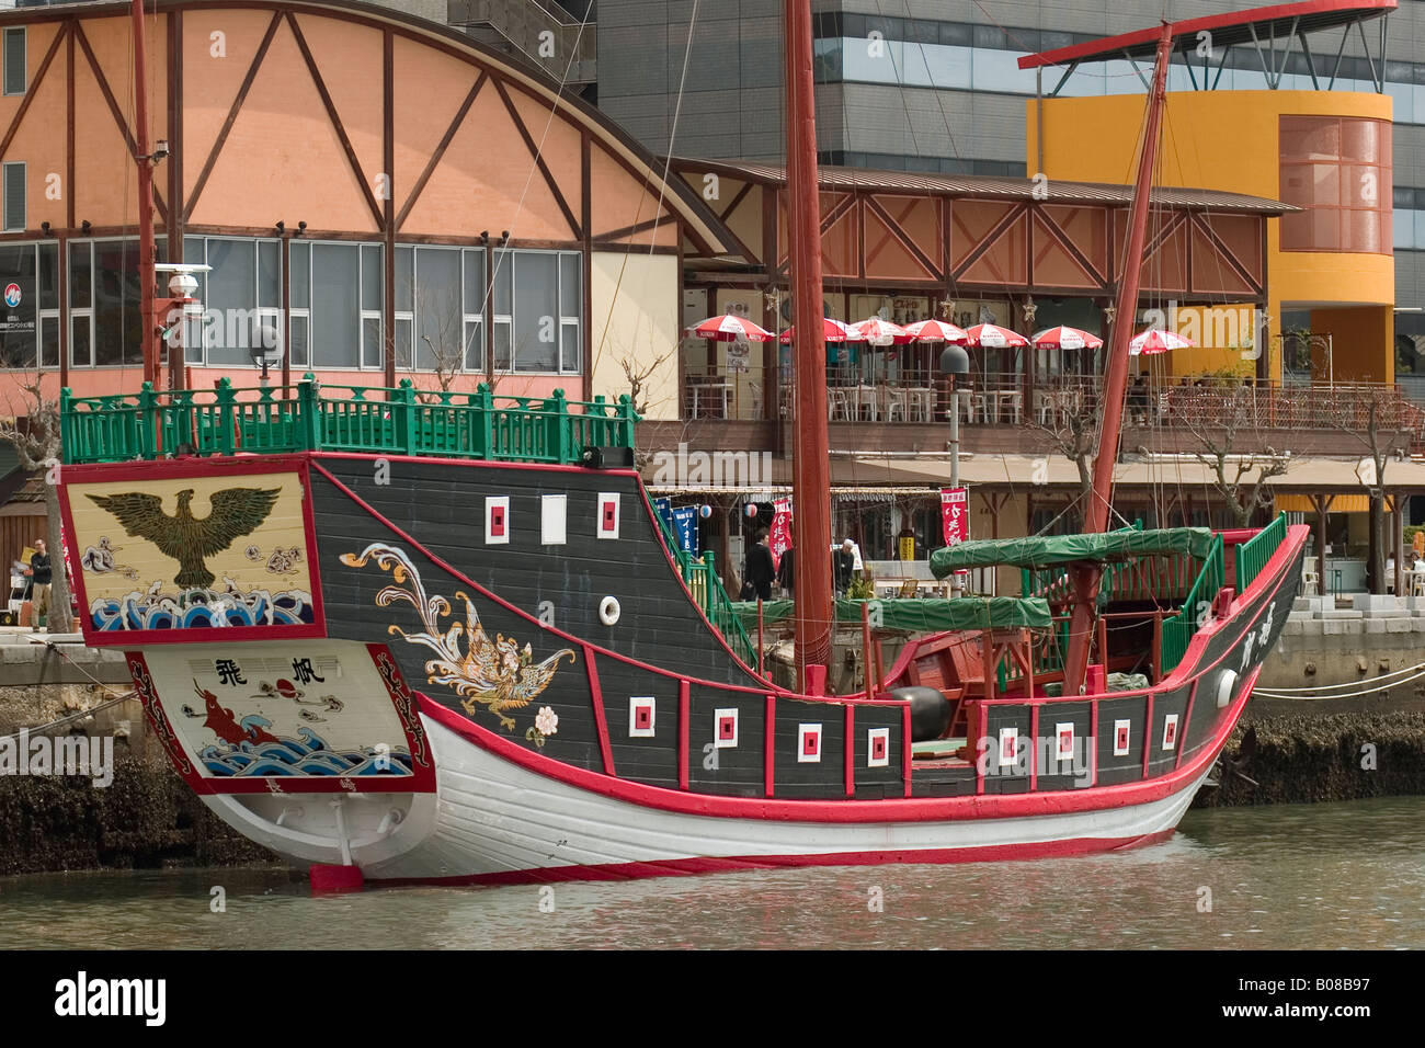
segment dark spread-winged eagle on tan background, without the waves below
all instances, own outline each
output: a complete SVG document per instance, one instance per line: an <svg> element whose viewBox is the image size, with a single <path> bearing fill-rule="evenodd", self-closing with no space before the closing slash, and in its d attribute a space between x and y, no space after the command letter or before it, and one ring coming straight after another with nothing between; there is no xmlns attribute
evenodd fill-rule
<svg viewBox="0 0 1425 1048"><path fill-rule="evenodd" d="M68 483L64 496L77 548L120 543L134 569L121 577L86 563L84 592L91 602L125 599L155 585L170 596L311 587L302 482L295 472ZM275 549L301 553L292 570L266 570Z"/></svg>

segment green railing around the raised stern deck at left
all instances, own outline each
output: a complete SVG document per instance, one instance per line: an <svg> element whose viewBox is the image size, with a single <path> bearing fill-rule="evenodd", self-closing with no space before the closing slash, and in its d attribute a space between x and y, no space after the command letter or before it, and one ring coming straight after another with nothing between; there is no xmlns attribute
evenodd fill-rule
<svg viewBox="0 0 1425 1048"><path fill-rule="evenodd" d="M74 396L60 392L66 463L157 459L187 446L195 455L345 451L373 455L430 455L494 462L576 463L586 446L633 448L638 413L627 395L617 401L496 396L473 394L319 385L312 375L295 386L155 391Z"/></svg>

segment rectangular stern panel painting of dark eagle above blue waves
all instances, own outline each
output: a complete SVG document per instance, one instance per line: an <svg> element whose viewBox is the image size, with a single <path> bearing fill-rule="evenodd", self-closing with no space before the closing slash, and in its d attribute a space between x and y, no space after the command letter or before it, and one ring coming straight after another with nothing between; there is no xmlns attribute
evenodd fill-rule
<svg viewBox="0 0 1425 1048"><path fill-rule="evenodd" d="M315 622L292 473L68 485L90 627Z"/></svg>

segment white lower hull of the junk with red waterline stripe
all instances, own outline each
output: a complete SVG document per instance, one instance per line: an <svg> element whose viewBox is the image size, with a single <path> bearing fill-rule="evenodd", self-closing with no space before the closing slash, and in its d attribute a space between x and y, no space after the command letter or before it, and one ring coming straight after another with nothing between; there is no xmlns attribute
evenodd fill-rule
<svg viewBox="0 0 1425 1048"><path fill-rule="evenodd" d="M405 794L398 806L395 797L356 796L341 808L331 794L205 800L245 836L298 864L353 863L366 880L499 883L1103 851L1167 836L1207 777L1204 770L1177 793L1144 804L1053 816L915 823L730 818L661 811L569 786L422 720L437 769L435 797ZM389 814L393 807L403 808L399 821ZM284 826L275 826L284 810Z"/></svg>

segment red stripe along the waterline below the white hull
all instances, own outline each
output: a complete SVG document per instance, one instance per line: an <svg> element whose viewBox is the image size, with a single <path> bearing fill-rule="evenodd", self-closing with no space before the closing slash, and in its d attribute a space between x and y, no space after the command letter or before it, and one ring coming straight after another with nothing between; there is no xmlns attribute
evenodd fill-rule
<svg viewBox="0 0 1425 1048"><path fill-rule="evenodd" d="M1104 851L1126 851L1159 844L1176 830L1143 837L1079 837L1035 844L992 844L979 848L899 848L892 851L832 851L822 856L741 856L732 858L670 858L661 863L610 863L606 865L557 865L546 870L507 870L465 877L398 877L385 885L432 884L439 887L497 884L559 884L564 881L626 881L643 877L697 877L741 870L787 870L807 865L885 865L889 863L1005 863L1036 858L1066 858Z"/></svg>

